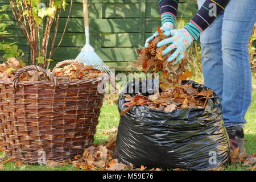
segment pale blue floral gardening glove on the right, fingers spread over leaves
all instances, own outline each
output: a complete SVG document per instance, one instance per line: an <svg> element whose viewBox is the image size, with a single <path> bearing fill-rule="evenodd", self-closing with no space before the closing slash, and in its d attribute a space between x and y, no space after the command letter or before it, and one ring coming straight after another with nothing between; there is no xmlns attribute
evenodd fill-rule
<svg viewBox="0 0 256 182"><path fill-rule="evenodd" d="M167 61L172 61L177 57L174 62L174 64L176 64L185 57L185 51L192 44L193 40L197 40L201 33L201 31L195 31L192 26L194 28L194 24L191 24L191 22L189 22L184 28L164 32L164 35L171 37L162 40L161 42L156 44L156 46L162 47L166 44L171 45L163 50L163 56L166 55L168 52L172 51L173 49L176 49L174 53L172 53L172 55L168 57Z"/></svg>

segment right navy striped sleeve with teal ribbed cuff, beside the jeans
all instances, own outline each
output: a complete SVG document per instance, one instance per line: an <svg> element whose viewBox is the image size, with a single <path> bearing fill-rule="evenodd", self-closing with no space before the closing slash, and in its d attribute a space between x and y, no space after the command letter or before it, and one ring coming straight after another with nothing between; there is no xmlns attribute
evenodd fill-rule
<svg viewBox="0 0 256 182"><path fill-rule="evenodd" d="M197 11L195 16L184 27L196 40L200 33L203 32L224 11L230 0L206 0Z"/></svg>

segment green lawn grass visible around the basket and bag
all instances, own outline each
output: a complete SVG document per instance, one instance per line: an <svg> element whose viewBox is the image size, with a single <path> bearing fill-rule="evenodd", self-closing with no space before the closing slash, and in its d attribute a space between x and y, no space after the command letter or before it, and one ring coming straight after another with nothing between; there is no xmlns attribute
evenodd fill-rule
<svg viewBox="0 0 256 182"><path fill-rule="evenodd" d="M256 125L255 125L255 118L256 118L256 91L253 92L253 102L251 102L250 108L246 114L246 127L245 131L245 147L247 154L256 154ZM109 102L105 102L101 109L101 115L99 118L99 124L97 126L97 132L95 135L94 143L102 143L108 139L108 135L103 134L104 132L102 129L112 129L113 126L118 126L119 123L119 113L117 110L116 104L108 104ZM3 157L3 153L0 154ZM55 168L48 168L43 165L29 165L26 164L21 168L15 167L13 162L5 164L5 169L2 170L28 170L28 171L36 171L36 170L55 170L55 171L62 171L62 170L80 170L76 169L73 166L64 166L64 167L55 167ZM242 166L240 163L229 165L225 168L225 170L248 170L246 167Z"/></svg>

